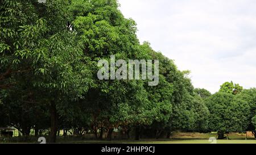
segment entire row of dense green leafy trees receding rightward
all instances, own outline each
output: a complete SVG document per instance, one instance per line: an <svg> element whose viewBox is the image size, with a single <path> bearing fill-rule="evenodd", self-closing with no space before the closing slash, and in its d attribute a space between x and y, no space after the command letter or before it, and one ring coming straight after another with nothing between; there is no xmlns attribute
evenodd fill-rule
<svg viewBox="0 0 256 155"><path fill-rule="evenodd" d="M112 139L170 137L172 131L255 129L255 89L224 83L211 95L194 89L188 71L139 43L134 20L116 0L0 1L0 127L30 135L74 129ZM159 85L97 78L97 62L159 60Z"/></svg>

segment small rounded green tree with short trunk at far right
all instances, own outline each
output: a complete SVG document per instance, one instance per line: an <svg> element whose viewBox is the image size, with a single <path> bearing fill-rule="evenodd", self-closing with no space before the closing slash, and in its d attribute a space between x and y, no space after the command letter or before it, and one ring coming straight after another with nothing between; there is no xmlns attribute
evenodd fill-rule
<svg viewBox="0 0 256 155"><path fill-rule="evenodd" d="M206 99L210 111L209 129L218 131L218 139L224 132L242 132L249 124L249 104L229 93L216 93Z"/></svg>

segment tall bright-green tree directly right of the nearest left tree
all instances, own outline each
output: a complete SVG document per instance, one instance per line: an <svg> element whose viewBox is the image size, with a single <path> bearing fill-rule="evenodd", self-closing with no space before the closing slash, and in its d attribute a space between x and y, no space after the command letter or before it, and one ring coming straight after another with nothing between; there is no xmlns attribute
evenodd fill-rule
<svg viewBox="0 0 256 155"><path fill-rule="evenodd" d="M135 22L123 17L117 1L72 1L69 11L77 40L95 66L102 58L109 61L111 55L123 60L135 58L139 51ZM92 66L92 73L97 75L98 69ZM93 79L96 85L90 87L82 102L89 107L86 111L92 115L90 126L96 137L99 129L106 129L111 139L119 125L146 123L144 110L139 110L147 105L143 81Z"/></svg>

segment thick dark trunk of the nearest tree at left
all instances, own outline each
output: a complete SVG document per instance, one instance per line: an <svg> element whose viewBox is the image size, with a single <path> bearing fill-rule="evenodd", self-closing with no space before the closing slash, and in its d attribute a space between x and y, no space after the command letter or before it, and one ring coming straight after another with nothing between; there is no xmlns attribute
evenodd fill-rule
<svg viewBox="0 0 256 155"><path fill-rule="evenodd" d="M55 103L51 102L51 132L49 134L49 143L56 143L57 135L57 110Z"/></svg>

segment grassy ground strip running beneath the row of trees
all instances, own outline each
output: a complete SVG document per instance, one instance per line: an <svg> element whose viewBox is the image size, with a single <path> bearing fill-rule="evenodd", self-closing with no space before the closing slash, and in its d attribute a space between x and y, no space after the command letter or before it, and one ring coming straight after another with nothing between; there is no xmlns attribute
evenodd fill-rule
<svg viewBox="0 0 256 155"><path fill-rule="evenodd" d="M114 138L118 135L114 134ZM131 140L93 140L92 135L85 135L83 137L76 136L58 136L57 143L60 144L211 144L209 137L216 137L216 133L173 133L170 139L142 139L139 141ZM245 133L230 133L231 140L217 140L217 144L256 144L256 140L251 133L247 133L247 140ZM118 139L118 138L117 138ZM0 143L38 143L37 137L12 137L10 139L3 139L0 137Z"/></svg>

